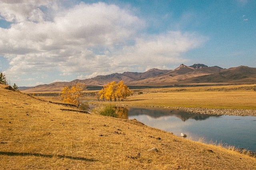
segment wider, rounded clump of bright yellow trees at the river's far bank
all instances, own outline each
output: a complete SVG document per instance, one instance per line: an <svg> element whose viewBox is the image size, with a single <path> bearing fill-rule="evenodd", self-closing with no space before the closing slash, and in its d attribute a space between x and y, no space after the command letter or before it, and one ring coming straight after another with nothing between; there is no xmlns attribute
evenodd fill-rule
<svg viewBox="0 0 256 170"><path fill-rule="evenodd" d="M103 99L103 101L105 101L105 99L110 100L110 102L112 100L116 102L117 99L118 101L124 101L124 99L131 94L132 91L124 84L122 80L118 82L118 84L116 84L114 81L105 84L99 91L100 99Z"/></svg>

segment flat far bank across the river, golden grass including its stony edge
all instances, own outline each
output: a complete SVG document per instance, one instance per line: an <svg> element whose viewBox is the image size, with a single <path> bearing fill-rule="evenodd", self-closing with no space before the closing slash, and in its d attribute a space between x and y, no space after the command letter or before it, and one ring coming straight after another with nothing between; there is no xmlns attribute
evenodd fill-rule
<svg viewBox="0 0 256 170"><path fill-rule="evenodd" d="M134 90L134 94L124 102L98 102L95 98L86 98L92 104L163 107L212 115L256 116L255 99L255 84Z"/></svg>

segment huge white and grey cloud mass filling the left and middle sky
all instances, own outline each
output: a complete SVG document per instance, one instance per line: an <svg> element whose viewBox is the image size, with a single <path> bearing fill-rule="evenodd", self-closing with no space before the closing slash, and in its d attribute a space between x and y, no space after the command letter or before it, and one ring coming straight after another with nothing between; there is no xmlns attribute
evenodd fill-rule
<svg viewBox="0 0 256 170"><path fill-rule="evenodd" d="M0 17L12 22L0 28L0 56L9 61L10 76L56 71L88 78L168 68L168 63L186 61L182 54L207 40L180 31L142 34L145 21L114 4L0 2Z"/></svg>

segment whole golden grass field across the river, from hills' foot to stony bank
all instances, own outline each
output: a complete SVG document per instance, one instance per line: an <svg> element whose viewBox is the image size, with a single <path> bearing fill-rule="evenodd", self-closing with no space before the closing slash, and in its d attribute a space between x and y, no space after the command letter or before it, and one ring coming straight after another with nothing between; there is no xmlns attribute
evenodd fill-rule
<svg viewBox="0 0 256 170"><path fill-rule="evenodd" d="M142 94L138 95L138 92ZM130 106L256 109L256 85L135 90L133 96L128 97L126 101L120 102L120 104Z"/></svg>

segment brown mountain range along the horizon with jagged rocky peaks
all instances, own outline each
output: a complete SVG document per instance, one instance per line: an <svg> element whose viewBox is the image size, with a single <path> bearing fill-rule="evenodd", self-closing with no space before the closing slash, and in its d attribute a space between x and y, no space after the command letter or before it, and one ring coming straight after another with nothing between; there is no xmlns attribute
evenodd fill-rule
<svg viewBox="0 0 256 170"><path fill-rule="evenodd" d="M164 87L164 86L191 86L202 84L242 84L256 83L256 68L238 66L221 68L219 66L206 66L205 64L193 64L186 66L180 64L174 70L160 70L152 68L146 72L123 72L105 76L96 76L84 80L71 82L53 82L51 84L34 87L20 87L23 92L61 91L64 86L70 86L78 82L85 83L90 89L101 88L108 82L120 80L130 88Z"/></svg>

